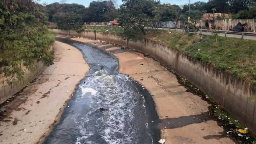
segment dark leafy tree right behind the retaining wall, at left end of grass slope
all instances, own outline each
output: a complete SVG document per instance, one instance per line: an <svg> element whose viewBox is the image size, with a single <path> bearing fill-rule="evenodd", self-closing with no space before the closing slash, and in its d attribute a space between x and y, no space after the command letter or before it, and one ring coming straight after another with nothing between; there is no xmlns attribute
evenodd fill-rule
<svg viewBox="0 0 256 144"><path fill-rule="evenodd" d="M128 40L145 35L145 26L154 18L153 9L159 4L154 0L122 0L118 22L124 28L123 36Z"/></svg>

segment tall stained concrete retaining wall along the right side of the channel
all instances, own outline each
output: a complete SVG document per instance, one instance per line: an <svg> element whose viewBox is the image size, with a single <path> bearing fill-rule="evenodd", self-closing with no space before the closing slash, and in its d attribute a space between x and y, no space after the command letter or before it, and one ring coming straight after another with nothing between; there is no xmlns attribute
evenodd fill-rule
<svg viewBox="0 0 256 144"><path fill-rule="evenodd" d="M116 34L52 29L57 34L83 36L134 48L163 62L178 75L206 93L211 99L256 134L256 86L223 72L211 64L195 61L192 57L159 42L142 39L127 42Z"/></svg>

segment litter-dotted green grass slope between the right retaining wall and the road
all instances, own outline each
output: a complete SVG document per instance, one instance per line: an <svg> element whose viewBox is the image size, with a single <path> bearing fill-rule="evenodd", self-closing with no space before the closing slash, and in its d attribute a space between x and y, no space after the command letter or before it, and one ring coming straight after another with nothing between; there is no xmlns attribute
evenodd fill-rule
<svg viewBox="0 0 256 144"><path fill-rule="evenodd" d="M119 35L123 32L117 26L89 26L86 30ZM223 71L256 84L256 40L175 31L169 34L167 30L146 30L146 33L148 39L159 41L196 60L209 62Z"/></svg>

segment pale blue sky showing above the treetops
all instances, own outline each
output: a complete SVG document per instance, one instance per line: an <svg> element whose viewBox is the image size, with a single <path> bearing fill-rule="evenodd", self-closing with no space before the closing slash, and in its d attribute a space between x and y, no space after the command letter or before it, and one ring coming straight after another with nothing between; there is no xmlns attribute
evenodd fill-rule
<svg viewBox="0 0 256 144"><path fill-rule="evenodd" d="M77 3L77 4L82 4L85 7L88 7L90 2L96 1L96 0L40 0L39 3L46 3L46 4L51 4L54 2L58 3ZM189 3L189 0L160 0L161 3L170 3L170 4L177 4L177 5L183 5L186 3ZM205 1L207 2L208 0L190 0L191 3L194 3L196 1ZM117 0L118 5L122 4L122 0Z"/></svg>

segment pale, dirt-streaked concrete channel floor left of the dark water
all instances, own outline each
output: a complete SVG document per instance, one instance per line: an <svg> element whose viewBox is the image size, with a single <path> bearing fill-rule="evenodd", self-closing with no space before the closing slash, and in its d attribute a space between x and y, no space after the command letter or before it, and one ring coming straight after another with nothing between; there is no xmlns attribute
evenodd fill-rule
<svg viewBox="0 0 256 144"><path fill-rule="evenodd" d="M58 122L76 85L89 71L75 47L55 42L53 50L54 65L3 105L6 118L0 121L0 143L42 142Z"/></svg>

